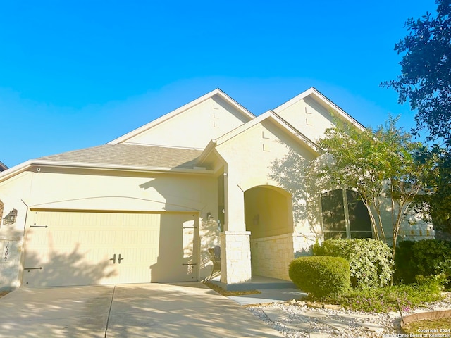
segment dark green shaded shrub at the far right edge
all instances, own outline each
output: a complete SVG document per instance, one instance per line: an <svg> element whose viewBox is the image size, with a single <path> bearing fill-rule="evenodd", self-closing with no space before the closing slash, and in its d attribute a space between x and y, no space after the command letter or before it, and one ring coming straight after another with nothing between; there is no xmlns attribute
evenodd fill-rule
<svg viewBox="0 0 451 338"><path fill-rule="evenodd" d="M417 275L451 275L451 242L404 241L396 248L395 282L414 283ZM451 285L448 282L447 288Z"/></svg>

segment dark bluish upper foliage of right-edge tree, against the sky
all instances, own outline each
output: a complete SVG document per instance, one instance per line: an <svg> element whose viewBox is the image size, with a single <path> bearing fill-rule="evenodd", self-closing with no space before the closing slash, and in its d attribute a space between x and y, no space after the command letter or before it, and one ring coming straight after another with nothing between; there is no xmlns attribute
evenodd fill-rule
<svg viewBox="0 0 451 338"><path fill-rule="evenodd" d="M383 82L393 88L404 104L417 110L414 135L428 130L428 140L442 139L451 149L451 0L436 0L437 17L426 13L405 23L409 35L395 44L405 53L397 80Z"/></svg>

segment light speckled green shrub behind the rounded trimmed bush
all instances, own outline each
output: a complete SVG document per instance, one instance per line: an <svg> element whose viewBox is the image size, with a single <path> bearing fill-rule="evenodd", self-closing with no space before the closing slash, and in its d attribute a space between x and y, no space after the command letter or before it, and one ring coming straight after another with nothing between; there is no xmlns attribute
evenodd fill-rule
<svg viewBox="0 0 451 338"><path fill-rule="evenodd" d="M384 287L393 274L393 254L376 239L327 239L314 255L335 256L350 262L351 285L359 289Z"/></svg>

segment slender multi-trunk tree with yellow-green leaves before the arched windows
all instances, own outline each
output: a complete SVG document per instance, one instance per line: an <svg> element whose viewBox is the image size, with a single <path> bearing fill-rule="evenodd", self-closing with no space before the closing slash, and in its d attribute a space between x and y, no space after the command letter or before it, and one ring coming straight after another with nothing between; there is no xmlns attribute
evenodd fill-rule
<svg viewBox="0 0 451 338"><path fill-rule="evenodd" d="M327 177L329 184L357 191L369 212L374 237L384 241L381 208L388 197L393 248L402 219L424 187L424 177L432 167L431 158L420 156L424 146L412 142L412 135L397 128L396 123L397 119L389 118L385 126L364 131L338 123L326 130L319 146L329 154L330 161L313 173L322 178L319 182Z"/></svg>

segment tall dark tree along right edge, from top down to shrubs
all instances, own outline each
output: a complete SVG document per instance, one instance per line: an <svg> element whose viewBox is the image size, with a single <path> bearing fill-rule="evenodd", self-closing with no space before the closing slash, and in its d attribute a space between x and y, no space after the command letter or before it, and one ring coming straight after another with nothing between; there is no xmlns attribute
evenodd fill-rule
<svg viewBox="0 0 451 338"><path fill-rule="evenodd" d="M433 187L429 204L434 225L451 232L451 0L437 0L436 18L426 13L407 20L409 35L395 44L398 54L405 53L397 80L384 82L393 88L401 104L409 100L415 115L415 136L428 130L426 139L434 145L431 153L435 166L429 175Z"/></svg>

